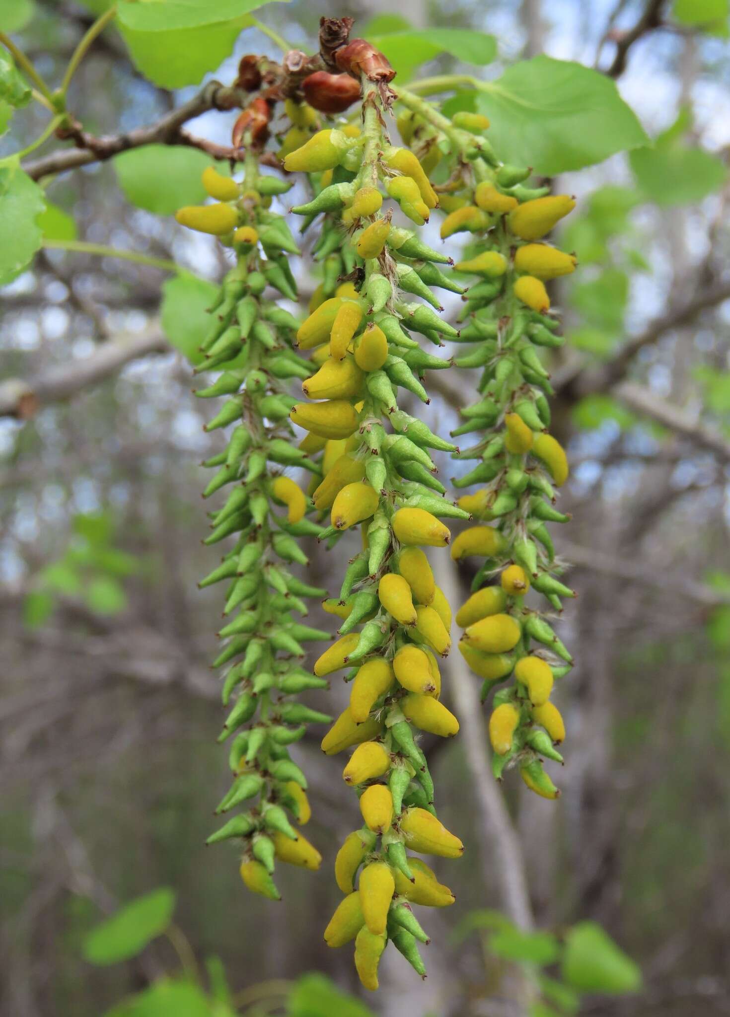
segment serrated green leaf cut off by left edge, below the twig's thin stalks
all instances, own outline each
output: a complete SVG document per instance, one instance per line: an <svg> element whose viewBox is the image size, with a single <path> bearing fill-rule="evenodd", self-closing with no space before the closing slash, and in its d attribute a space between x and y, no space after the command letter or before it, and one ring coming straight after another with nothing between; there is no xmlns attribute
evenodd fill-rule
<svg viewBox="0 0 730 1017"><path fill-rule="evenodd" d="M31 263L41 246L43 190L17 166L0 167L0 286Z"/></svg>

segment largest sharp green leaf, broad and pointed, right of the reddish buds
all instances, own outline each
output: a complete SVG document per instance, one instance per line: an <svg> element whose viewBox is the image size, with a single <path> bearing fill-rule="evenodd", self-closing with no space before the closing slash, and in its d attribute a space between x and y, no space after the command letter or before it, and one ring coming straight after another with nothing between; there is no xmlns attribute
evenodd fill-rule
<svg viewBox="0 0 730 1017"><path fill-rule="evenodd" d="M605 74L539 56L480 84L478 109L505 162L554 176L647 144L636 115Z"/></svg>

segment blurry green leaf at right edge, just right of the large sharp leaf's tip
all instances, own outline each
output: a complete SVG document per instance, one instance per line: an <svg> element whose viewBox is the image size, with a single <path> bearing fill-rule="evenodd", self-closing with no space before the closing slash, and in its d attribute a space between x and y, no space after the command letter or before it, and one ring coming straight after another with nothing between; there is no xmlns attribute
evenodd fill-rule
<svg viewBox="0 0 730 1017"><path fill-rule="evenodd" d="M723 161L702 148L637 148L628 159L645 200L659 205L702 201L720 190L728 175Z"/></svg>

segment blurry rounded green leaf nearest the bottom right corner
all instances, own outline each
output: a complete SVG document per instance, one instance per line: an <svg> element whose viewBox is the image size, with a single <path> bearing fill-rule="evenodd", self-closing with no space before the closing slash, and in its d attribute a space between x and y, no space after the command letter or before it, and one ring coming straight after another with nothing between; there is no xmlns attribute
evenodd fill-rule
<svg viewBox="0 0 730 1017"><path fill-rule="evenodd" d="M622 995L642 986L638 966L595 921L581 921L568 932L562 977L581 993Z"/></svg>

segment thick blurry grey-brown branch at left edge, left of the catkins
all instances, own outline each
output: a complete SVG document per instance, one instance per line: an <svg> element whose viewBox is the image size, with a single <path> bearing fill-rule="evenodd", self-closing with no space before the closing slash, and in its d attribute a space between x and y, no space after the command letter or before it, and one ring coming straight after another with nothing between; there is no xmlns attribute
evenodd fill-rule
<svg viewBox="0 0 730 1017"><path fill-rule="evenodd" d="M165 336L154 328L141 336L107 342L85 360L42 373L32 381L8 378L0 382L0 417L27 420L47 403L69 399L87 385L98 384L131 360L169 350Z"/></svg>

